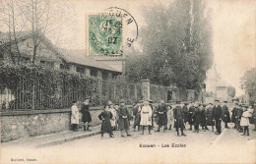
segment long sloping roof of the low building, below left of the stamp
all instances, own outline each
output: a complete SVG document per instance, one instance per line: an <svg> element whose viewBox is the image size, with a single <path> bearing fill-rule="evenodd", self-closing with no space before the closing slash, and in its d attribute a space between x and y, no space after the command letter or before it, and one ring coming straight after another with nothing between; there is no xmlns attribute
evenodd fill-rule
<svg viewBox="0 0 256 164"><path fill-rule="evenodd" d="M68 50L59 48L59 51L61 52L63 58L67 60L68 63L75 63L79 65L94 67L102 70L108 70L113 72L119 72L118 70L115 70L114 68L111 68L110 66L107 66L101 62L97 62L94 57L86 56L86 50Z"/></svg>

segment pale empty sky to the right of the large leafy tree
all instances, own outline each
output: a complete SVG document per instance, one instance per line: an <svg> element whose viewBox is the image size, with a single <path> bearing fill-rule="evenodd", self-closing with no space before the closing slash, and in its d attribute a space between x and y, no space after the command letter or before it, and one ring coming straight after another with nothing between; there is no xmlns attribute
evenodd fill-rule
<svg viewBox="0 0 256 164"><path fill-rule="evenodd" d="M213 52L218 74L236 89L243 74L256 67L256 1L211 1Z"/></svg>

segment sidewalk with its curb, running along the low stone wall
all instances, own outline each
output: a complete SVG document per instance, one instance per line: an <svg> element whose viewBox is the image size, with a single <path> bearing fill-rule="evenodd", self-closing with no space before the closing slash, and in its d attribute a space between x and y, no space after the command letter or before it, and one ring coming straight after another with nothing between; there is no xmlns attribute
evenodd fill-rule
<svg viewBox="0 0 256 164"><path fill-rule="evenodd" d="M73 141L84 137L92 137L99 134L100 126L92 128L92 132L85 132L82 129L79 132L64 131L55 134L49 134L38 137L23 137L18 140L12 140L8 142L2 142L1 147L27 147L27 148L39 148L61 144L67 141Z"/></svg>

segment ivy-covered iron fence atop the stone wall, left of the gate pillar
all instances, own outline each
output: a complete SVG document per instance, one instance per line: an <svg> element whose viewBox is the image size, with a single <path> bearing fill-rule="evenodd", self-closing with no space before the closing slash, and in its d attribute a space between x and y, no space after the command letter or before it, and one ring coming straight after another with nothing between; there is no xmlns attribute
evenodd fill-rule
<svg viewBox="0 0 256 164"><path fill-rule="evenodd" d="M3 93L3 90L10 90ZM61 109L73 100L83 102L91 97L91 106L100 106L121 98L132 104L142 96L141 86L118 77L100 81L77 72L54 70L41 65L0 66L0 109ZM8 99L6 99L8 97Z"/></svg>

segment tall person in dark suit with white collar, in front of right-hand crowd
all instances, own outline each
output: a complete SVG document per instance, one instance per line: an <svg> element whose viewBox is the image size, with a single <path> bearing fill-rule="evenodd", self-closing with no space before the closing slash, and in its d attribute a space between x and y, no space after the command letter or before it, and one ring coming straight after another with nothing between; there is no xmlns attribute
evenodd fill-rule
<svg viewBox="0 0 256 164"><path fill-rule="evenodd" d="M222 134L222 118L223 118L223 109L220 105L220 100L215 100L214 106L214 119L216 124L216 135Z"/></svg>

